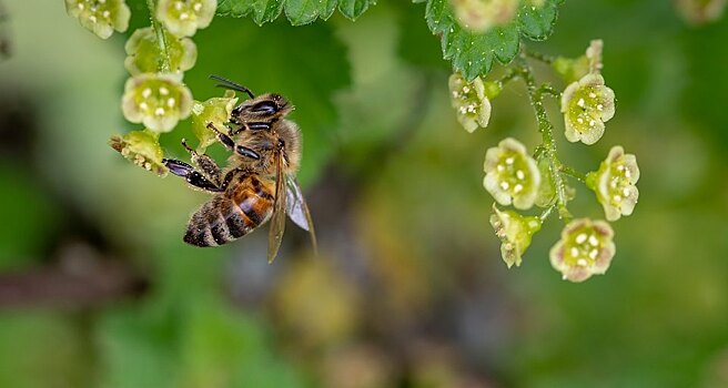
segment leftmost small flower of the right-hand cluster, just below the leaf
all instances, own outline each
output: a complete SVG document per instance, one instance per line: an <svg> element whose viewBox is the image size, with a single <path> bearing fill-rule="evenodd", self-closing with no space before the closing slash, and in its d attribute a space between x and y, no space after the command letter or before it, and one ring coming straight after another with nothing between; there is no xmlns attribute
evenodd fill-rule
<svg viewBox="0 0 728 388"><path fill-rule="evenodd" d="M457 112L457 121L465 131L473 132L487 126L491 120L491 100L485 95L481 78L467 82L461 73L454 73L448 81L451 103Z"/></svg>

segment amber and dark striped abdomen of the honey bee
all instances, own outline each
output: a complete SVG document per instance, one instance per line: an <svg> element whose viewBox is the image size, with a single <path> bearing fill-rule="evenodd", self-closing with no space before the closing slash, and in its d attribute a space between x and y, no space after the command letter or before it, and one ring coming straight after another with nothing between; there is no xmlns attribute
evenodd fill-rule
<svg viewBox="0 0 728 388"><path fill-rule="evenodd" d="M223 245L265 223L273 213L275 185L257 175L241 178L228 192L203 204L190 218L184 242L196 246Z"/></svg>

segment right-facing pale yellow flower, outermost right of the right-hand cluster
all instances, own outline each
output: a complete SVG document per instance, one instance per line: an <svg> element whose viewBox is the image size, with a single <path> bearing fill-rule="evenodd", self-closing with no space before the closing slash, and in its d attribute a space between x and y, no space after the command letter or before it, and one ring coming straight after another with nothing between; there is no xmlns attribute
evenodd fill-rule
<svg viewBox="0 0 728 388"><path fill-rule="evenodd" d="M586 184L597 194L597 201L604 206L607 221L617 221L623 215L631 214L639 197L637 181L637 157L625 154L625 150L619 145L609 150L609 155L601 162L599 170L586 176Z"/></svg>

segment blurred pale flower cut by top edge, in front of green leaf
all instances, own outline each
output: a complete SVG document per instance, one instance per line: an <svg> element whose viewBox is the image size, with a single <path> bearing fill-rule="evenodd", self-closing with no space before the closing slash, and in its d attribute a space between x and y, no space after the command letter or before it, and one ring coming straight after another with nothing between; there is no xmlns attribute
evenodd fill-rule
<svg viewBox="0 0 728 388"><path fill-rule="evenodd" d="M451 0L455 18L464 29L482 33L516 17L518 0Z"/></svg>

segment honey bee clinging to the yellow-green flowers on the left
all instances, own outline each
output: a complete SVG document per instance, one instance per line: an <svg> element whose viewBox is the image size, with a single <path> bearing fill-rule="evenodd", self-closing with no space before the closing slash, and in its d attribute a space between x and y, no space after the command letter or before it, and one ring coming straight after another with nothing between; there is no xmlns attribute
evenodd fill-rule
<svg viewBox="0 0 728 388"><path fill-rule="evenodd" d="M192 165L163 161L172 174L184 177L191 186L215 194L192 214L184 242L201 247L223 245L270 221L267 259L272 262L281 246L287 214L311 234L315 251L311 213L295 178L301 163L301 132L285 119L293 105L280 94L255 96L243 85L211 78L222 82L219 86L246 93L250 100L233 109L228 133L208 123L220 143L232 151L225 169L192 150L184 140L182 145Z"/></svg>

